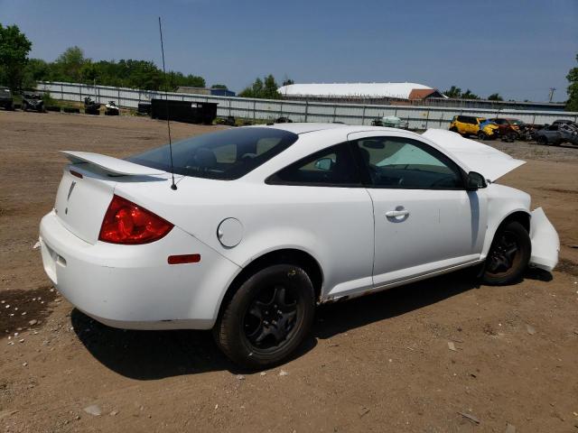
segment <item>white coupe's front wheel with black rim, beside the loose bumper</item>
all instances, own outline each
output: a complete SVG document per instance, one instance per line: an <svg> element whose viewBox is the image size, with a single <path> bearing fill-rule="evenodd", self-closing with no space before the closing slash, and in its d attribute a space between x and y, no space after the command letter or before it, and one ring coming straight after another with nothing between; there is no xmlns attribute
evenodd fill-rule
<svg viewBox="0 0 578 433"><path fill-rule="evenodd" d="M491 286L519 281L531 253L532 244L526 228L517 221L503 224L489 247L482 281Z"/></svg>

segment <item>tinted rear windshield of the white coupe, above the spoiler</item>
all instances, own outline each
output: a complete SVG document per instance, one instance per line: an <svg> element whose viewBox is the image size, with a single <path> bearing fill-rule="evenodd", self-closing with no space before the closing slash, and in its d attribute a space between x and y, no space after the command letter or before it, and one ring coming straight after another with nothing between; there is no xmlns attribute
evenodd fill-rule
<svg viewBox="0 0 578 433"><path fill-rule="evenodd" d="M174 172L196 178L233 180L283 152L298 135L274 128L232 128L172 144ZM126 158L146 167L171 170L169 146Z"/></svg>

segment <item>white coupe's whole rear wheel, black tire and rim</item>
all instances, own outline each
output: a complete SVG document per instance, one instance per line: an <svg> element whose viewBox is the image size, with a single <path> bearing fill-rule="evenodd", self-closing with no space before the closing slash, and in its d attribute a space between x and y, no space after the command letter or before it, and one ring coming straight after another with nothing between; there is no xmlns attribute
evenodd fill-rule
<svg viewBox="0 0 578 433"><path fill-rule="evenodd" d="M243 282L213 328L219 348L234 363L262 369L281 363L312 327L314 290L306 272L275 264Z"/></svg>

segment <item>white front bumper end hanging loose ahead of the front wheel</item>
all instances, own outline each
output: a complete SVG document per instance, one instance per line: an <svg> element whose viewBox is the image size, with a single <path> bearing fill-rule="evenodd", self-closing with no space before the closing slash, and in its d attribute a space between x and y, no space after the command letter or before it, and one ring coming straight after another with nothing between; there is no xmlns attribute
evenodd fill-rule
<svg viewBox="0 0 578 433"><path fill-rule="evenodd" d="M532 211L530 221L530 239L532 240L530 264L545 271L552 271L558 263L560 252L558 233L545 216L542 207Z"/></svg>

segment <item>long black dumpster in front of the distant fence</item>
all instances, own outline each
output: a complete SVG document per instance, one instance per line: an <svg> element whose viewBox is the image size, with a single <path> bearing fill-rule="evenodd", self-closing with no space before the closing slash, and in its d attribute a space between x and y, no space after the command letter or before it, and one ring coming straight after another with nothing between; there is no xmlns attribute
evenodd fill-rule
<svg viewBox="0 0 578 433"><path fill-rule="evenodd" d="M217 117L217 105L213 102L168 101L170 120L190 124L212 124ZM166 99L151 99L151 117L167 118Z"/></svg>

